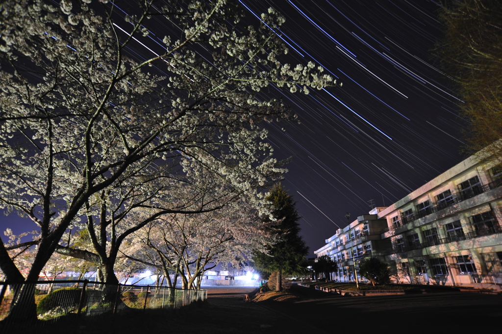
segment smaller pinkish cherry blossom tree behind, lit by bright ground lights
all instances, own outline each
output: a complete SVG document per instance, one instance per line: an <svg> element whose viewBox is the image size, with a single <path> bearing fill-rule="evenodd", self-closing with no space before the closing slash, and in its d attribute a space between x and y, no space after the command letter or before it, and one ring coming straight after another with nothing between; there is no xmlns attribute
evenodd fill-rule
<svg viewBox="0 0 502 334"><path fill-rule="evenodd" d="M162 270L168 286L200 288L204 272L218 263L238 259L272 242L257 212L244 203L197 215L166 215L138 231L133 248L122 251L128 259ZM171 282L170 274L174 274Z"/></svg>

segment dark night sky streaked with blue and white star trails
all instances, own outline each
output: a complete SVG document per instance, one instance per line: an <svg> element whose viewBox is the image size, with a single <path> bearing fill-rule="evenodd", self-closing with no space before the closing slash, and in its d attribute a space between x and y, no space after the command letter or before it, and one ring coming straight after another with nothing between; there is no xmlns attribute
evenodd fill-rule
<svg viewBox="0 0 502 334"><path fill-rule="evenodd" d="M346 212L352 221L367 214L371 200L388 206L465 158L466 122L432 52L443 35L438 3L238 2L256 25L254 14L281 12L288 62L314 61L342 83L309 95L272 85L264 92L291 105L301 122L267 127L277 158L293 157L282 184L297 201L311 254L346 226ZM16 233L35 228L14 215L0 221Z"/></svg>

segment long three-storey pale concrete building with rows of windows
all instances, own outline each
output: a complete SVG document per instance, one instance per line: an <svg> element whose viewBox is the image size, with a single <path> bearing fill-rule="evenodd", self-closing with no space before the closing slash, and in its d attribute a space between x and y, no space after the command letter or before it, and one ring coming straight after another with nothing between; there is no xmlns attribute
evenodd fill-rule
<svg viewBox="0 0 502 334"><path fill-rule="evenodd" d="M354 260L378 256L396 283L500 288L502 165L471 156L389 207L358 216L314 253L354 280Z"/></svg>

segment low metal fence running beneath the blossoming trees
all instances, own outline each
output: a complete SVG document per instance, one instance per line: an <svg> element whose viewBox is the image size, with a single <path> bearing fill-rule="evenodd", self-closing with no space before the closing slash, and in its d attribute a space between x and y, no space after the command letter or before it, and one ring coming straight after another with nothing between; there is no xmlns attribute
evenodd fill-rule
<svg viewBox="0 0 502 334"><path fill-rule="evenodd" d="M15 332L27 322L44 327L66 318L77 325L135 310L176 309L207 299L207 290L86 280L0 282L0 288L0 333Z"/></svg>

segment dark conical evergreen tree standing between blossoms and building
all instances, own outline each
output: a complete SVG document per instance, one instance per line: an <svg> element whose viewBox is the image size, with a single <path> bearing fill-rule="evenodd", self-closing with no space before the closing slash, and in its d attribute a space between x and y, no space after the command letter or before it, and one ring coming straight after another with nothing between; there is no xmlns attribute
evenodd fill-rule
<svg viewBox="0 0 502 334"><path fill-rule="evenodd" d="M281 185L276 185L267 199L272 206L272 218L278 221L270 227L270 233L278 241L266 246L266 252L256 253L255 265L258 269L277 273L276 291L282 290L282 276L299 274L305 271L307 261L305 256L309 248L299 236L300 215L291 197ZM266 219L270 222L270 219Z"/></svg>

